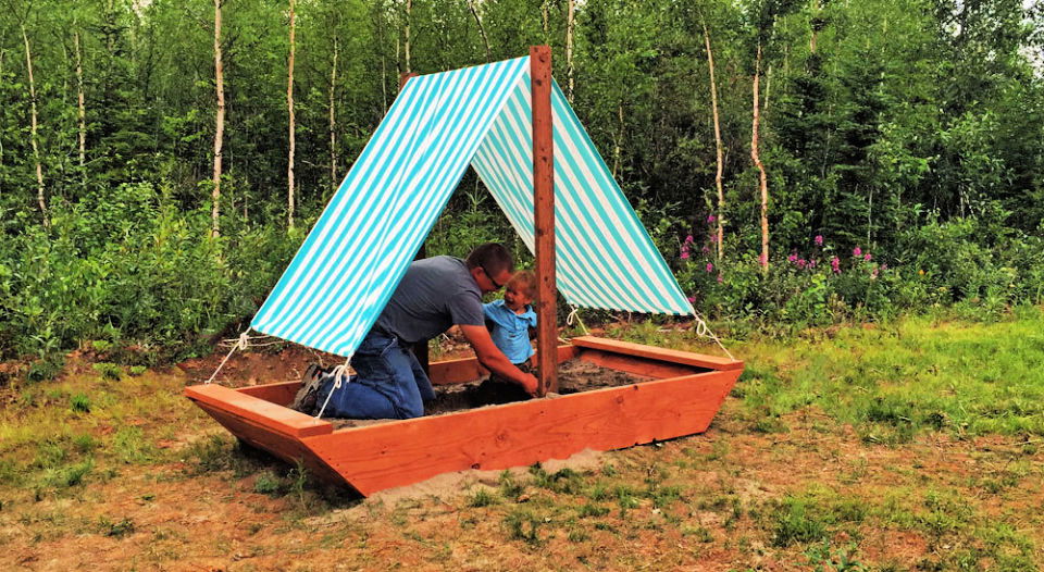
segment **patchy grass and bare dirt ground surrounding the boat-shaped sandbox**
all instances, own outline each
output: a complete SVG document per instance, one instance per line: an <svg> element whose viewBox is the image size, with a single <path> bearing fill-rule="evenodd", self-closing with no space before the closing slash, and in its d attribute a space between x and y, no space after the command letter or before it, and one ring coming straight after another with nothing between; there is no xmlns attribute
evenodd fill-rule
<svg viewBox="0 0 1044 572"><path fill-rule="evenodd" d="M705 347L661 329L620 333ZM79 366L4 389L0 568L1036 570L1042 336L1022 310L732 345L705 435L396 501L244 446L176 372Z"/></svg>

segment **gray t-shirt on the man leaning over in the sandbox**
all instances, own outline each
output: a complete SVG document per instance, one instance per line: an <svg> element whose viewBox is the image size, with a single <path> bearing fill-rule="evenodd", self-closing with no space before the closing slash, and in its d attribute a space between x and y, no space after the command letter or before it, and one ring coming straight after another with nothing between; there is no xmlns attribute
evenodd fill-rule
<svg viewBox="0 0 1044 572"><path fill-rule="evenodd" d="M409 344L431 339L453 324L483 325L482 290L463 260L433 257L410 264L375 328Z"/></svg>

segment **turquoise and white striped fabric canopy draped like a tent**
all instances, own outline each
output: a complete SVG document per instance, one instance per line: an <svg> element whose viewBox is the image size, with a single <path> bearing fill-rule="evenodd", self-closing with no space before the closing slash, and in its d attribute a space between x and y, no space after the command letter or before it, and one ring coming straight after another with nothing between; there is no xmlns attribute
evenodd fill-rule
<svg viewBox="0 0 1044 572"><path fill-rule="evenodd" d="M472 165L534 250L530 59L411 78L254 316L350 356ZM582 308L693 314L557 84L558 288Z"/></svg>

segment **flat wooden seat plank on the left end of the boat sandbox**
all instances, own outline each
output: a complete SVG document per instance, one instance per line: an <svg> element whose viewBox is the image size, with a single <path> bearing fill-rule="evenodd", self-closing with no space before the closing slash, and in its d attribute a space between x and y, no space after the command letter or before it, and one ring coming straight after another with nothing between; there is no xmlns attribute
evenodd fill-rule
<svg viewBox="0 0 1044 572"><path fill-rule="evenodd" d="M190 385L185 388L185 396L199 403L200 407L207 405L221 409L250 420L269 431L284 433L291 437L322 435L334 430L328 421L315 419L220 385Z"/></svg>

